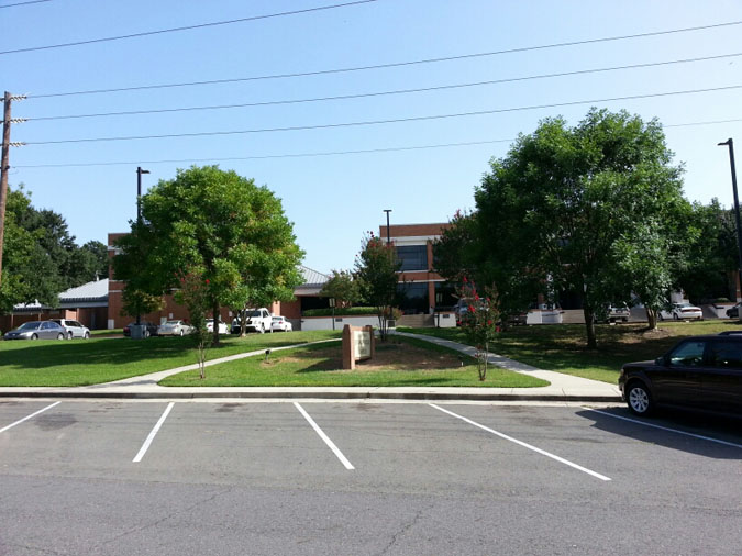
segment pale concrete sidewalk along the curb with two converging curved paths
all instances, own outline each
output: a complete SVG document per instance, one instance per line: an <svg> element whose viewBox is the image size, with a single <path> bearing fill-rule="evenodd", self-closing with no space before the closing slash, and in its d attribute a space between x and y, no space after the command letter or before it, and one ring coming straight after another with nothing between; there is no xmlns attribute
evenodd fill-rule
<svg viewBox="0 0 742 556"><path fill-rule="evenodd" d="M457 352L474 355L470 346L433 336L407 334L392 331L400 336L416 337L442 345ZM339 342L330 340L323 342ZM270 348L272 352L290 349L295 346ZM207 366L230 360L263 355L265 349L248 352L207 362ZM160 370L149 375L125 378L103 385L85 387L0 387L0 398L122 398L122 399L196 399L196 398L256 398L256 399L399 399L399 400L480 400L480 401L562 401L562 402L620 402L617 386L587 378L573 377L562 372L538 369L490 354L489 363L514 372L521 372L551 382L539 388L455 388L455 387L163 387L157 382L170 375L198 369L187 365L175 369Z"/></svg>

